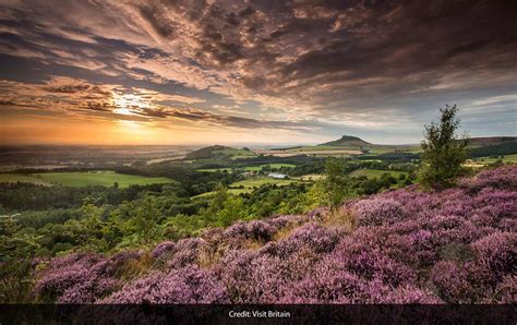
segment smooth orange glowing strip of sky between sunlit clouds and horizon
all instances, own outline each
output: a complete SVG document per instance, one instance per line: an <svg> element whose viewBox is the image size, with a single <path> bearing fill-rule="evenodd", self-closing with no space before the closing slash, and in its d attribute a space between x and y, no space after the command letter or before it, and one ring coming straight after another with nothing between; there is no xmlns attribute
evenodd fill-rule
<svg viewBox="0 0 517 325"><path fill-rule="evenodd" d="M277 143L296 139L292 133L278 130L221 130L159 125L130 120L85 120L75 117L4 117L0 121L0 144L28 145L191 145L232 143Z"/></svg>

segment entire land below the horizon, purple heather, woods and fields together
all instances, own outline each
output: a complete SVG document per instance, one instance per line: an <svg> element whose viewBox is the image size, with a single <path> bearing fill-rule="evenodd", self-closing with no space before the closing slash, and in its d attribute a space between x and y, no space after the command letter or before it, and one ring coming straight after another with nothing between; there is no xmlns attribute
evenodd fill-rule
<svg viewBox="0 0 517 325"><path fill-rule="evenodd" d="M441 189L422 188L424 145L351 135L0 152L2 302L508 302L515 289L516 137L470 139Z"/></svg>

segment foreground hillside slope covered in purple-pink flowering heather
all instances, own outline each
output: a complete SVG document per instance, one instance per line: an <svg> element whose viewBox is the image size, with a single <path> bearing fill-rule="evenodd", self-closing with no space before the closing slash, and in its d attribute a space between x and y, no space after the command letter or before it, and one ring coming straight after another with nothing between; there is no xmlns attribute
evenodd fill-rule
<svg viewBox="0 0 517 325"><path fill-rule="evenodd" d="M340 217L320 209L149 253L55 258L35 293L62 303L515 303L516 217L517 167L506 167L444 192L350 201Z"/></svg>

